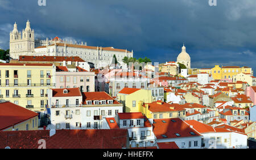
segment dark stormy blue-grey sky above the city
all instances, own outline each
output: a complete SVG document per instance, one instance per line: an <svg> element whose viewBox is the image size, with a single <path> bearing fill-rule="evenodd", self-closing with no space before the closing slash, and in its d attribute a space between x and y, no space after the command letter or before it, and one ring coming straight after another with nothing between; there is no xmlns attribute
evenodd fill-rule
<svg viewBox="0 0 256 160"><path fill-rule="evenodd" d="M176 61L183 43L192 68L256 68L256 1L0 0L0 48L9 49L13 24L30 20L35 37L87 42L134 51L135 58Z"/></svg>

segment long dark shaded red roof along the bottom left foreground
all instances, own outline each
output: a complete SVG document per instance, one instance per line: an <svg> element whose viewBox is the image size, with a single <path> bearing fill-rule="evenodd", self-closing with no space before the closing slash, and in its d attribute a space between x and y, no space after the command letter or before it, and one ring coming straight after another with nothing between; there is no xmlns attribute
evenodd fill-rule
<svg viewBox="0 0 256 160"><path fill-rule="evenodd" d="M51 137L49 130L5 131L0 132L0 148L38 149L43 139L47 149L122 149L127 138L127 129L60 129Z"/></svg>

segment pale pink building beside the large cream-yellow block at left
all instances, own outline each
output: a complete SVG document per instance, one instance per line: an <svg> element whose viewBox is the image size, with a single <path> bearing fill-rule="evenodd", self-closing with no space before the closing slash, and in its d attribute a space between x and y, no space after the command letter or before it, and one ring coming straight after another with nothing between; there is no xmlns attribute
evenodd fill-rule
<svg viewBox="0 0 256 160"><path fill-rule="evenodd" d="M94 72L80 67L56 66L56 88L80 88L81 92L94 92Z"/></svg>

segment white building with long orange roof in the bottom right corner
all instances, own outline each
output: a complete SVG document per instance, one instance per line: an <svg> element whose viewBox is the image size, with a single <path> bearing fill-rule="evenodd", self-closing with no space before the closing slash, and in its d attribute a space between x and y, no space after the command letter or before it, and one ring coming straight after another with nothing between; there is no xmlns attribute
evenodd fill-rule
<svg viewBox="0 0 256 160"><path fill-rule="evenodd" d="M186 120L185 122L203 135L202 148L247 149L247 135L245 133L230 131L226 128L214 128L196 120Z"/></svg>

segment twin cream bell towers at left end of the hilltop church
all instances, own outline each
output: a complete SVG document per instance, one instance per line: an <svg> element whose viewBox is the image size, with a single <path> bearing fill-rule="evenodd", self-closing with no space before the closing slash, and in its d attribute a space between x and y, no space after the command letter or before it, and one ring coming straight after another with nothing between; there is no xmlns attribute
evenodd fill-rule
<svg viewBox="0 0 256 160"><path fill-rule="evenodd" d="M35 37L34 30L30 28L30 21L27 20L26 28L22 34L18 31L15 22L13 31L10 32L10 57L18 59L19 55L27 55L34 52Z"/></svg>

